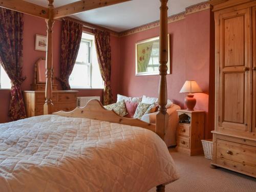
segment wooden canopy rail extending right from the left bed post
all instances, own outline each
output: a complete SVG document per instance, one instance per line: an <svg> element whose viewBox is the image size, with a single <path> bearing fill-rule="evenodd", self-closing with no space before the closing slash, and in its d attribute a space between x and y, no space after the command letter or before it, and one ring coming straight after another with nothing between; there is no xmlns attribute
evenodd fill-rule
<svg viewBox="0 0 256 192"><path fill-rule="evenodd" d="M0 0L1 1L1 0ZM83 11L88 11L91 9L96 9L100 7L106 7L110 5L115 5L123 2L129 2L131 0L83 0L74 2L68 5L63 5L57 7L53 11L53 18L61 18Z"/></svg>

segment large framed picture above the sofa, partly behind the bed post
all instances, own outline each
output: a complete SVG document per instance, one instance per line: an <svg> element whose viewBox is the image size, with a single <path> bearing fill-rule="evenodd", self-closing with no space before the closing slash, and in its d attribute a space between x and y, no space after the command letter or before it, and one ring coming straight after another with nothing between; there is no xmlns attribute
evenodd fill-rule
<svg viewBox="0 0 256 192"><path fill-rule="evenodd" d="M170 41L168 34L167 74L170 74ZM159 75L159 37L142 40L136 43L136 76Z"/></svg>

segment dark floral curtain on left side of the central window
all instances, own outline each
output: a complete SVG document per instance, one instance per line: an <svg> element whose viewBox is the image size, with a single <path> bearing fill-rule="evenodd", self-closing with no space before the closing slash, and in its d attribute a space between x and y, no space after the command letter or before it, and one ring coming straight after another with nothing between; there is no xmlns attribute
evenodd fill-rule
<svg viewBox="0 0 256 192"><path fill-rule="evenodd" d="M70 90L69 77L73 71L76 57L79 51L82 24L65 19L62 22L60 78L57 78L63 90Z"/></svg>

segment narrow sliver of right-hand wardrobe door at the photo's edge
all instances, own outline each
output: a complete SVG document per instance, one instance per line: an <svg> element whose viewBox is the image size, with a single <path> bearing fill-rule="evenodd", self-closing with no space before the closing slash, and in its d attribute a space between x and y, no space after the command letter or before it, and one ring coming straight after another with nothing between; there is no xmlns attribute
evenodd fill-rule
<svg viewBox="0 0 256 192"><path fill-rule="evenodd" d="M252 8L252 132L256 133L256 7Z"/></svg>

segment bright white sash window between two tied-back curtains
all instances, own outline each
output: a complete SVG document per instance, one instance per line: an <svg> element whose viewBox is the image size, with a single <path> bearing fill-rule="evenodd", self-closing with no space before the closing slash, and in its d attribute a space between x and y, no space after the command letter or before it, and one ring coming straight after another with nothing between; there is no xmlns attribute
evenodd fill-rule
<svg viewBox="0 0 256 192"><path fill-rule="evenodd" d="M82 33L80 48L69 83L73 89L103 89L94 35Z"/></svg>

